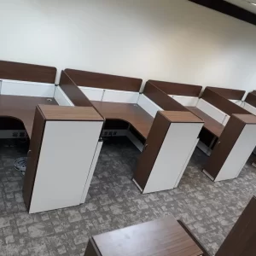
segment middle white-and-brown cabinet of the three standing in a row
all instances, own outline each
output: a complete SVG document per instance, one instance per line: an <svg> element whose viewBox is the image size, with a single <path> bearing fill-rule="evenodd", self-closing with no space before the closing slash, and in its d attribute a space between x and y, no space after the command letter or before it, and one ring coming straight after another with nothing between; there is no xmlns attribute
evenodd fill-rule
<svg viewBox="0 0 256 256"><path fill-rule="evenodd" d="M143 194L177 187L202 126L201 119L190 112L157 113L134 173Z"/></svg>

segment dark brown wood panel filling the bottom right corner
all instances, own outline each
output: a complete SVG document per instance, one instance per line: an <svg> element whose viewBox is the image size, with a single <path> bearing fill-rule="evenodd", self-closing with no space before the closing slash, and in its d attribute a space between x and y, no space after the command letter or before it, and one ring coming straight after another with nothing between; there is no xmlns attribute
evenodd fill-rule
<svg viewBox="0 0 256 256"><path fill-rule="evenodd" d="M256 252L256 198L253 196L215 256L253 256Z"/></svg>

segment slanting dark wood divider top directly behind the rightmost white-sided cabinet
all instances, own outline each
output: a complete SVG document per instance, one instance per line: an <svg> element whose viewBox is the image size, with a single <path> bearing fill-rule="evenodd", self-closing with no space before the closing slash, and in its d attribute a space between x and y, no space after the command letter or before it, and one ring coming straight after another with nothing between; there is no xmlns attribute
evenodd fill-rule
<svg viewBox="0 0 256 256"><path fill-rule="evenodd" d="M201 98L228 115L232 115L233 113L250 113L244 108L237 106L235 103L230 102L224 98L224 96L218 95L217 92L208 87L204 90Z"/></svg>

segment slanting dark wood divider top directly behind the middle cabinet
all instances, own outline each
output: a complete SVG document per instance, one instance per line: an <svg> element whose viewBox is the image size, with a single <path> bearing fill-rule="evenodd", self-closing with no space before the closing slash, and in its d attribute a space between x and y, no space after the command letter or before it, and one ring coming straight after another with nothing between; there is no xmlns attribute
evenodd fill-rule
<svg viewBox="0 0 256 256"><path fill-rule="evenodd" d="M152 102L163 108L164 110L171 111L185 111L187 108L183 107L182 104L173 100L164 91L157 88L154 84L147 82L143 90L143 94L147 96Z"/></svg>

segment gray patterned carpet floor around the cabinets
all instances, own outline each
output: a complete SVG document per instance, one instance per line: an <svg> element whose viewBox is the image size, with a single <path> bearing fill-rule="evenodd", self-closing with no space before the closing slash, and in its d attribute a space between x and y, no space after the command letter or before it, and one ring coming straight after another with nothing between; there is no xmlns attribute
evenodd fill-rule
<svg viewBox="0 0 256 256"><path fill-rule="evenodd" d="M240 177L212 183L201 172L207 156L196 149L177 189L142 195L131 181L139 154L126 139L106 141L85 204L29 215L13 165L26 147L0 142L0 256L84 255L90 236L170 214L214 255L255 194L250 160Z"/></svg>

